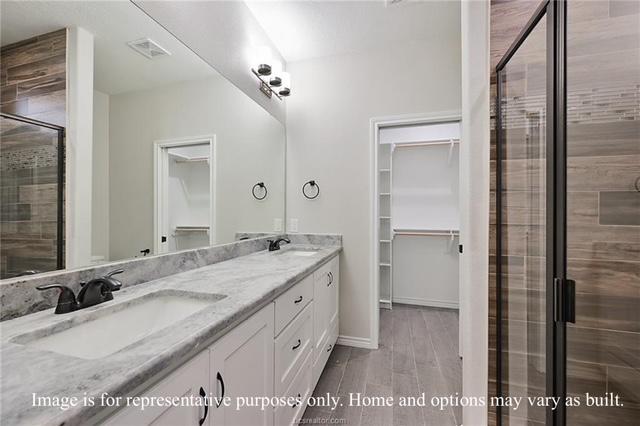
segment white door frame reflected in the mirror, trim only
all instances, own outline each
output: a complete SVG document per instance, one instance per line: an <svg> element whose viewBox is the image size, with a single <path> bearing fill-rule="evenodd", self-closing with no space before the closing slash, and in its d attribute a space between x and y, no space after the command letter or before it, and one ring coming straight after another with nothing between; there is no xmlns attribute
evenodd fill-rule
<svg viewBox="0 0 640 426"><path fill-rule="evenodd" d="M193 136L177 139L157 140L153 143L153 254L167 253L167 242L162 242L160 236L164 232L165 202L167 195L165 179L168 172L169 148L189 145L209 144L209 245L216 243L216 172L217 172L217 144L216 135Z"/></svg>

